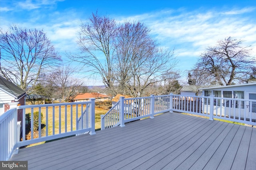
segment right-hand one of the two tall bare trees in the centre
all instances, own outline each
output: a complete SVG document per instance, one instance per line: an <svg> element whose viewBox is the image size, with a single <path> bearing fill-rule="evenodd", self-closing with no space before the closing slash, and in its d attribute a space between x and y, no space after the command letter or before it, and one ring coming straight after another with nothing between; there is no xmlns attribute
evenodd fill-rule
<svg viewBox="0 0 256 170"><path fill-rule="evenodd" d="M162 82L172 70L173 51L163 51L150 37L143 23L125 22L118 26L115 41L115 73L120 92L137 97L150 84Z"/></svg>

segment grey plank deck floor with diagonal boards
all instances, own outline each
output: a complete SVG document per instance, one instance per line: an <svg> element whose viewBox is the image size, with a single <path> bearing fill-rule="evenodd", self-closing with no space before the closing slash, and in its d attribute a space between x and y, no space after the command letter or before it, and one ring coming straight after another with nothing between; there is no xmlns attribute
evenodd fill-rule
<svg viewBox="0 0 256 170"><path fill-rule="evenodd" d="M180 113L125 125L20 149L11 160L35 170L256 169L256 128Z"/></svg>

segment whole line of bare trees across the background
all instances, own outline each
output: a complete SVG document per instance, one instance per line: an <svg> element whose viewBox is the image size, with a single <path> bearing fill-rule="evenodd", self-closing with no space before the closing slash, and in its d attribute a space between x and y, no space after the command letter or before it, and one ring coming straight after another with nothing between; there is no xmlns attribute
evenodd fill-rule
<svg viewBox="0 0 256 170"><path fill-rule="evenodd" d="M256 59L252 48L232 37L208 47L192 70L188 84L209 86L248 83L256 79ZM74 65L64 65L43 29L11 25L0 29L0 75L28 94L72 99L87 92L86 83L74 78L77 72L90 72L101 79L110 96L134 97L150 94L178 94L181 71L174 49L163 49L144 23L117 23L96 12L80 23L79 54L66 55ZM79 66L79 67L78 67Z"/></svg>

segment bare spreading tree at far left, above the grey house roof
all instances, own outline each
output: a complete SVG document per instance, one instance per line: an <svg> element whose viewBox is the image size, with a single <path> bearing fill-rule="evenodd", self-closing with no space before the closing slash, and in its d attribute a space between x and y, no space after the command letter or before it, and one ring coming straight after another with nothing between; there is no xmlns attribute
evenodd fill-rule
<svg viewBox="0 0 256 170"><path fill-rule="evenodd" d="M34 87L40 74L61 61L43 30L10 26L0 29L0 74L23 90Z"/></svg>

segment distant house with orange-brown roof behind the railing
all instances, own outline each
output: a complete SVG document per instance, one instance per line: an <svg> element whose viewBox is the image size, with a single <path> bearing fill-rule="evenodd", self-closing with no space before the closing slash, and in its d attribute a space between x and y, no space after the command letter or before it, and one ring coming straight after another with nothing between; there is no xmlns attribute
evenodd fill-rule
<svg viewBox="0 0 256 170"><path fill-rule="evenodd" d="M90 98L95 98L97 102L104 102L109 99L109 96L100 93L80 93L73 99L73 101L86 102L89 101Z"/></svg>

